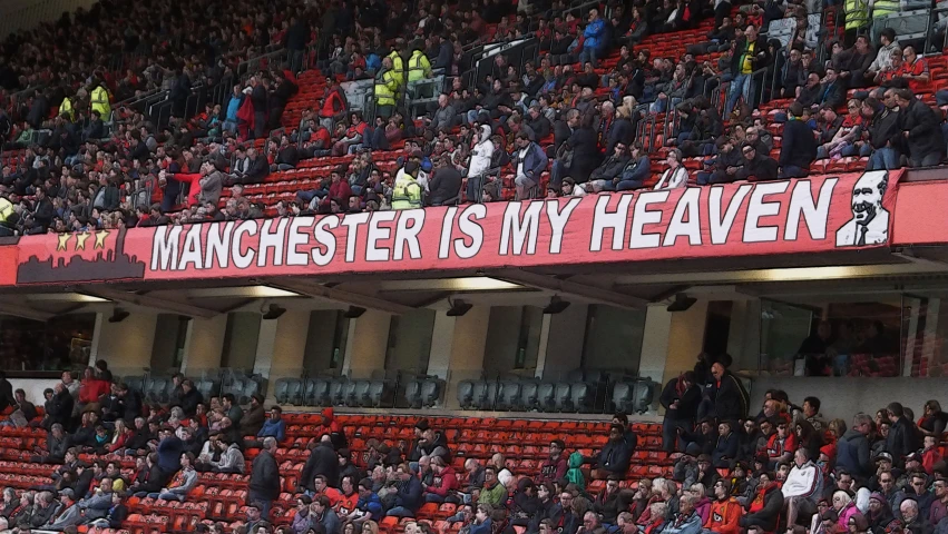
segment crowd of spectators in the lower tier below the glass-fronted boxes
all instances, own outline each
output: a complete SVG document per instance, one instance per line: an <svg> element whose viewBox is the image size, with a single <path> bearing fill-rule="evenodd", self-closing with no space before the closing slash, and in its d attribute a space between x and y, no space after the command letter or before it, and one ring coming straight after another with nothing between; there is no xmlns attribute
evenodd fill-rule
<svg viewBox="0 0 948 534"><path fill-rule="evenodd" d="M267 411L260 396L244 409L229 394L203 398L176 375L170 403L149 406L99 362L80 380L63 373L38 414L3 378L3 424L47 428L46 446L32 461L57 467L48 484L2 492L0 526L18 533L120 528L128 498L201 500L192 495L197 474L213 472L243 474L248 483L243 521L199 526L218 533L378 534L384 517L414 517L426 503L457 504L441 528L466 534L946 532L940 439L948 414L937 400L925 404L917 422L896 402L874 416L825 421L819 398L798 406L771 390L754 414L729 363L727 355L702 355L694 370L665 385L668 476L628 484L638 437L625 414L613 417L608 438L592 455L553 439L535 472L515 472L495 454L483 463L468 457L458 473L458 444L428 419L419 419L410 443L370 439L356 461L326 408L320 437L306 446L296 507L280 515L271 513L282 487L275 454L293 439L281 408ZM127 457L135 458L134 469L123 468ZM605 484L594 490L592 481ZM433 530L417 521L404 532Z"/></svg>

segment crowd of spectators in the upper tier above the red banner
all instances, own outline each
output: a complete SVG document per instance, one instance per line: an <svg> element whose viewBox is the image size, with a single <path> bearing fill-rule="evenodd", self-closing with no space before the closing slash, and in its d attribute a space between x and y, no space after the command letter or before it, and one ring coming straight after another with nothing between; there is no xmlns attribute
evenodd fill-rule
<svg viewBox="0 0 948 534"><path fill-rule="evenodd" d="M0 171L0 235L493 201L505 198L500 169L526 199L802 177L818 159L864 157L869 169L893 169L945 157L941 112L919 98L937 89L928 60L891 29L869 32L860 13L813 33L812 7L799 0L607 2L581 13L561 0L286 3L193 18L185 11L216 12L213 2L126 10L107 0L8 38L0 87L29 89L0 113L4 148L21 156ZM147 24L156 12L163 23ZM795 24L785 46L762 33L778 19ZM653 58L641 44L705 20L706 41L687 43L681 57ZM466 46L524 37L538 39L539 53L522 70L501 53L483 78L461 76L472 67ZM242 59L278 47L285 63L254 63L262 70L213 100L222 80L242 79ZM311 65L326 75L323 96L306 102L299 125L284 126L296 73ZM421 81L439 73L443 93L414 120L405 95L421 96ZM374 79L372 120L351 112L341 79ZM169 91L167 123L113 110L152 88ZM723 113L708 98L715 88L726 93ZM206 106L192 113L188 99L202 91ZM948 91L936 97L948 103ZM789 105L770 117L758 110L763 98ZM637 127L673 110L680 120L656 164L654 139ZM377 165L374 150L402 146L395 171ZM271 172L346 154L356 156L292 201L244 196ZM692 157L702 158L693 180Z"/></svg>

